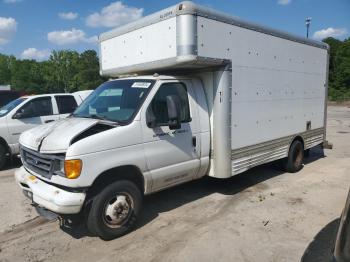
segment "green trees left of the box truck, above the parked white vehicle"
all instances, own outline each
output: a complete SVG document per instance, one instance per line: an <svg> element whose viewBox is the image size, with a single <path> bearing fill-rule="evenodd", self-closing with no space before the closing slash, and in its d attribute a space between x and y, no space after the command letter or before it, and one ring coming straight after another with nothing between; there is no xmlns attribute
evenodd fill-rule
<svg viewBox="0 0 350 262"><path fill-rule="evenodd" d="M71 50L53 51L44 62L0 54L0 85L10 84L13 89L29 94L95 89L104 81L99 75L94 50L81 54Z"/></svg>

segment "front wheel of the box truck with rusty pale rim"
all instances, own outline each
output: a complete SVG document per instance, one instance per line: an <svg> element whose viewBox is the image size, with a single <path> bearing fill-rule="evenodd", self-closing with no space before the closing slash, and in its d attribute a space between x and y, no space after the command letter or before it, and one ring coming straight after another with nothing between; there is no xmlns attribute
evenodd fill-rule
<svg viewBox="0 0 350 262"><path fill-rule="evenodd" d="M93 198L87 227L104 240L120 237L133 228L141 206L138 187L130 181L116 181Z"/></svg>

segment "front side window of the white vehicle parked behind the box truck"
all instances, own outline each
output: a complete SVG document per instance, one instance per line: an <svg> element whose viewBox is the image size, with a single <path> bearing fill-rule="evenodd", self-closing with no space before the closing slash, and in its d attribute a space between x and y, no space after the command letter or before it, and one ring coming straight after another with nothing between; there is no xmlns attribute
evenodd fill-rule
<svg viewBox="0 0 350 262"><path fill-rule="evenodd" d="M33 99L26 103L20 111L25 118L52 115L51 97Z"/></svg>

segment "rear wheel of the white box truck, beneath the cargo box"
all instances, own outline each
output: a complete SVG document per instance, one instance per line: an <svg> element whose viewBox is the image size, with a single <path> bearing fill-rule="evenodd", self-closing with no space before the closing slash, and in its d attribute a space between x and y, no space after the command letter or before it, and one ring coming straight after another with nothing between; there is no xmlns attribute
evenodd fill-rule
<svg viewBox="0 0 350 262"><path fill-rule="evenodd" d="M303 168L304 146L295 140L289 148L288 157L284 159L284 169L289 173L296 173Z"/></svg>

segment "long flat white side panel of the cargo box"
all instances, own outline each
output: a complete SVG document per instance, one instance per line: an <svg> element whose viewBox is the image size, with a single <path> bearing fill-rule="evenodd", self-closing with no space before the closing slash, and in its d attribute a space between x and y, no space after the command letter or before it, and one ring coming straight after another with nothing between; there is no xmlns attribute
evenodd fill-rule
<svg viewBox="0 0 350 262"><path fill-rule="evenodd" d="M233 150L324 127L326 49L198 17L198 55L232 61Z"/></svg>

